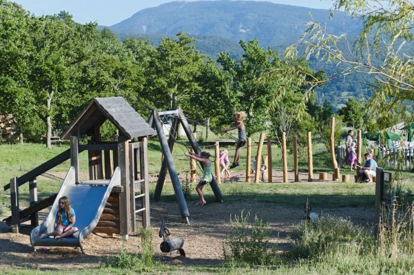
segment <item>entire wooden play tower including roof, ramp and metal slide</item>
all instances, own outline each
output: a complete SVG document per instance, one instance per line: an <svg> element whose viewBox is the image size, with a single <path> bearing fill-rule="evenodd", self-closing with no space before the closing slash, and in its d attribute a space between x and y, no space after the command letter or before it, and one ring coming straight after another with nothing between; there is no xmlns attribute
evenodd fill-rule
<svg viewBox="0 0 414 275"><path fill-rule="evenodd" d="M101 140L100 127L106 120L118 130L116 141ZM93 99L61 137L70 139L68 150L26 174L12 178L4 186L4 190L10 189L11 198L11 216L4 220L12 232L17 233L22 222L31 220L32 226L37 226L37 212L53 204L48 218L31 234L32 244L41 245L44 241L37 240L36 236L45 227L50 230L57 201L66 195L78 213L76 226L79 233L74 237L79 242L47 240L47 245L61 246L67 242L70 246L79 246L89 232L120 234L127 239L128 234L136 231L137 213L142 212L143 227L150 225L147 137L155 134L124 98ZM87 144L80 144L79 137L84 135L90 139ZM133 138L138 138L138 142L133 142ZM84 150L88 151L89 179L82 181L79 178L79 153ZM71 168L59 193L38 202L36 177L69 159ZM26 182L29 182L30 207L20 211L19 186ZM136 199L141 200L138 209ZM82 215L85 217L81 218Z"/></svg>

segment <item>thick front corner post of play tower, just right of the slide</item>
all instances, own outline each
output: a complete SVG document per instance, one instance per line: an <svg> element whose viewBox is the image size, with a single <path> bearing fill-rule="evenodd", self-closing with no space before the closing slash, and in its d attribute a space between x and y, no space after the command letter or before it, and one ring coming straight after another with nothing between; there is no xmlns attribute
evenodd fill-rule
<svg viewBox="0 0 414 275"><path fill-rule="evenodd" d="M121 186L124 187L120 194L119 202L119 225L120 234L128 238L131 228L131 206L130 206L130 185L129 185L129 147L128 139L118 137L118 167L121 170ZM135 213L134 213L135 214Z"/></svg>

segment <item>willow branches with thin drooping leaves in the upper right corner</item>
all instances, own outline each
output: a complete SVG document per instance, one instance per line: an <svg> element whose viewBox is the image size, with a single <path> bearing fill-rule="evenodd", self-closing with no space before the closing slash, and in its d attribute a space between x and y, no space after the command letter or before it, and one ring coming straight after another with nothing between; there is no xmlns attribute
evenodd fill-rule
<svg viewBox="0 0 414 275"><path fill-rule="evenodd" d="M298 46L304 44L308 58L346 65L330 79L350 73L371 75L375 82L368 105L377 114L377 128L384 129L396 115L406 114L414 102L414 57L412 51L406 50L413 41L414 3L340 0L334 1L333 16L336 10L359 17L363 23L354 45L345 34L329 34L325 24L311 21L304 38L285 54L295 56ZM347 45L345 49L339 47L342 43Z"/></svg>

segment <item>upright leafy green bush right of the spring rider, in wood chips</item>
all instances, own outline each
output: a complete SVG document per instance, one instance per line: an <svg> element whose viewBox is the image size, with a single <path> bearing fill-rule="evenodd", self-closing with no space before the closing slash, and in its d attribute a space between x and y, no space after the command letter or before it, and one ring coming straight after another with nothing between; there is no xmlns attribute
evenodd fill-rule
<svg viewBox="0 0 414 275"><path fill-rule="evenodd" d="M247 266L275 265L280 263L277 258L277 245L270 243L270 224L264 223L257 216L252 223L250 213L235 215L230 218L231 227L223 242L223 255L228 263Z"/></svg>

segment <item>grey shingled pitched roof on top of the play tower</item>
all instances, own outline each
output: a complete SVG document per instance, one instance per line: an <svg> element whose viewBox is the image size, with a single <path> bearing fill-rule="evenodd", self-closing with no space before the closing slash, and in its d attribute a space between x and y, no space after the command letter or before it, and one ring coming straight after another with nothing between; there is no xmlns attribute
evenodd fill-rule
<svg viewBox="0 0 414 275"><path fill-rule="evenodd" d="M128 139L156 135L148 123L122 97L94 98L69 125L62 139L79 131L79 135L94 133L95 125L101 126L109 119L118 129L119 135Z"/></svg>

